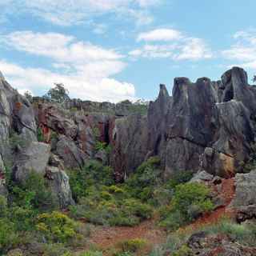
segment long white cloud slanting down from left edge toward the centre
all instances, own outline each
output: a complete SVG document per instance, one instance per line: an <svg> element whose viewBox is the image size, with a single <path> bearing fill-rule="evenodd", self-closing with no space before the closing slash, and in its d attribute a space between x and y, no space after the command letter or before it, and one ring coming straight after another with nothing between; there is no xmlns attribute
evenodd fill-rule
<svg viewBox="0 0 256 256"><path fill-rule="evenodd" d="M5 36L0 42L15 50L30 54L54 58L59 62L83 63L102 59L115 60L122 58L114 50L105 50L90 42L78 42L74 37L57 33L34 33L32 31L16 31Z"/></svg>

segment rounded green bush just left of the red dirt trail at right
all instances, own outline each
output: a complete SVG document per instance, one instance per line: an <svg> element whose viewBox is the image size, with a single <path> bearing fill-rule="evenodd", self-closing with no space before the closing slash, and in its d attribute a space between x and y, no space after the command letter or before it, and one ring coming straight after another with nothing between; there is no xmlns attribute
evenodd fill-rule
<svg viewBox="0 0 256 256"><path fill-rule="evenodd" d="M170 205L161 211L161 226L170 230L192 222L204 212L213 210L210 189L199 183L185 183L176 186Z"/></svg>

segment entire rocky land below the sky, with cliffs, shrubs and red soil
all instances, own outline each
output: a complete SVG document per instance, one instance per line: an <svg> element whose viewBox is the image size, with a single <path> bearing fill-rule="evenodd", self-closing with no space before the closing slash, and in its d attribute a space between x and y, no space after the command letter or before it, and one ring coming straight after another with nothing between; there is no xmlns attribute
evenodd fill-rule
<svg viewBox="0 0 256 256"><path fill-rule="evenodd" d="M1 255L256 255L256 87L26 98L0 75Z"/></svg>

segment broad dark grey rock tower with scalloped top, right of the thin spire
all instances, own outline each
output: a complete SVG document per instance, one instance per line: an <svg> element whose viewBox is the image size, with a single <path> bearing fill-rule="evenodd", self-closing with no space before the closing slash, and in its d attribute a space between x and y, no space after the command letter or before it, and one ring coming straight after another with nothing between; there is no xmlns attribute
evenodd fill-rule
<svg viewBox="0 0 256 256"><path fill-rule="evenodd" d="M200 156L214 137L218 124L217 93L210 79L175 78L170 108L166 174L198 170ZM182 161L183 159L183 161Z"/></svg>

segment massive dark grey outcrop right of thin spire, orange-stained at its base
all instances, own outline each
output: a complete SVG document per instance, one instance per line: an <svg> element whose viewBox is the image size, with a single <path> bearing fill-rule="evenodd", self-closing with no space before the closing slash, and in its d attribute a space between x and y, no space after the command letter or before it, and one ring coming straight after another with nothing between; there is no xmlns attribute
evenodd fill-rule
<svg viewBox="0 0 256 256"><path fill-rule="evenodd" d="M234 176L254 142L254 87L246 72L234 67L222 81L174 80L166 146L166 173L206 170ZM250 104L248 103L250 102Z"/></svg>

